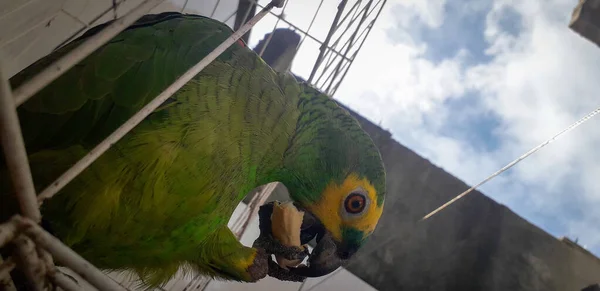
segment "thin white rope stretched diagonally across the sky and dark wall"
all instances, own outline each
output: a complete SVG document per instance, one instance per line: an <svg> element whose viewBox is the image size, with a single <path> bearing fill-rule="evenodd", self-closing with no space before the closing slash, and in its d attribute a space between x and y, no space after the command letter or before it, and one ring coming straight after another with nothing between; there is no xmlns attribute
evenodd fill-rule
<svg viewBox="0 0 600 291"><path fill-rule="evenodd" d="M577 120L575 123L569 125L567 128L563 129L561 132L557 133L553 137L549 138L548 140L544 141L543 143L539 144L538 146L536 146L536 147L532 148L531 150L529 150L528 152L524 153L523 155L521 155L517 159L513 160L512 162L510 162L508 165L502 167L502 169L496 171L495 173L493 173L489 177L485 178L483 181L479 182L477 185L469 188L467 191L460 193L458 196L456 196L456 197L452 198L450 201L444 203L444 205L438 207L436 210L434 210L434 211L430 212L429 214L425 215L421 220L428 219L431 216L435 215L436 213L440 212L442 209L448 207L450 204L456 202L458 199L466 196L467 194L471 193L471 191L477 189L477 187L480 187L481 185L487 183L488 181L490 181L494 177L496 177L496 176L502 174L503 172L505 172L506 170L512 168L514 165L516 165L520 161L524 160L525 158L529 157L530 155L532 155L533 153L537 152L541 148L543 148L543 147L547 146L548 144L550 144L551 142L555 141L561 135L563 135L563 134L565 134L565 133L567 133L567 132L575 129L579 125L581 125L584 122L588 121L590 118L594 117L594 115L596 115L598 113L600 113L600 107L596 108L596 110L588 113L586 116L584 116L581 119Z"/></svg>

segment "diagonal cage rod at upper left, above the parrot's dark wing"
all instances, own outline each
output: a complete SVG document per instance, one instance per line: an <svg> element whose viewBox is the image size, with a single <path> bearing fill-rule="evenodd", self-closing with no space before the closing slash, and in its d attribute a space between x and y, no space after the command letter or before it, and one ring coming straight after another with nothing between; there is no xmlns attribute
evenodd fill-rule
<svg viewBox="0 0 600 291"><path fill-rule="evenodd" d="M23 104L35 93L68 71L75 64L83 60L100 46L110 41L113 37L119 34L119 32L123 31L130 24L147 14L150 10L152 10L152 8L156 7L163 1L164 0L144 1L139 6L123 15L123 17L115 20L113 23L102 29L102 31L98 32L94 36L91 36L88 40L74 48L69 54L55 61L29 81L19 86L19 88L15 89L14 91L16 105L19 106Z"/></svg>

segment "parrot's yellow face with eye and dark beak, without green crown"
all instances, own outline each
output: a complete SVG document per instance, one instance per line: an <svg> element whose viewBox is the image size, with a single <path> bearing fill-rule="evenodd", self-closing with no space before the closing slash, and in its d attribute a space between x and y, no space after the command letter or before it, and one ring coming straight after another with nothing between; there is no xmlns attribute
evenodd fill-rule
<svg viewBox="0 0 600 291"><path fill-rule="evenodd" d="M382 190L382 189L379 189ZM383 212L383 199L367 177L350 173L341 183L331 181L314 204L296 204L304 210L301 240L316 238L308 267L292 269L303 277L333 272L364 245Z"/></svg>

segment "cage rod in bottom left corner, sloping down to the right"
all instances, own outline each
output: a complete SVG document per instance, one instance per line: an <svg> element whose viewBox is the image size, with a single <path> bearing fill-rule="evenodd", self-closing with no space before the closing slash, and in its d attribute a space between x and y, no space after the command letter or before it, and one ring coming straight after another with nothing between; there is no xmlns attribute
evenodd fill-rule
<svg viewBox="0 0 600 291"><path fill-rule="evenodd" d="M77 272L96 288L100 290L125 291L121 285L106 276L75 251L64 245L60 240L47 233L39 225L21 216L15 216L13 220L19 224L23 232L34 240L36 244L48 250L57 261Z"/></svg>

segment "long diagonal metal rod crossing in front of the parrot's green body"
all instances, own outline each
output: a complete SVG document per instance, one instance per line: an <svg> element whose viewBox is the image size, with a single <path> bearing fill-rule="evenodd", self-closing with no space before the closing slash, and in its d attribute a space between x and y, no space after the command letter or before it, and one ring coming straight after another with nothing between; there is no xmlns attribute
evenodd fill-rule
<svg viewBox="0 0 600 291"><path fill-rule="evenodd" d="M54 196L54 194L56 194L60 189L67 185L67 183L71 182L79 173L85 170L96 159L98 159L100 155L106 152L111 147L111 145L119 141L123 136L125 136L125 134L127 134L131 129L133 129L142 120L144 120L146 116L148 116L156 108L158 108L158 106L165 102L167 98L171 97L175 92L181 89L181 87L183 87L194 76L200 73L200 71L202 71L213 60L215 60L219 55L221 55L221 53L223 53L227 48L229 48L233 43L235 43L244 33L250 30L259 20L261 20L273 7L275 7L275 1L269 3L267 7L265 7L263 10L257 13L256 16L250 19L250 21L244 24L239 30L234 32L230 37L228 37L223 43L217 46L200 62L191 67L187 72L185 72L181 77L179 77L179 79L177 79L173 84L171 84L162 93L160 93L160 95L154 98L154 100L146 104L146 106L144 106L140 111L138 111L129 120L127 120L127 122L121 125L116 131L114 131L105 140L103 140L94 149L92 149L87 155L85 155L85 157L83 157L75 165L73 165L73 167L67 170L56 181L50 184L50 186L44 189L44 191L42 191L42 193L38 196L38 202L40 204L43 203L44 200Z"/></svg>

